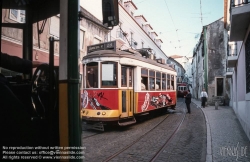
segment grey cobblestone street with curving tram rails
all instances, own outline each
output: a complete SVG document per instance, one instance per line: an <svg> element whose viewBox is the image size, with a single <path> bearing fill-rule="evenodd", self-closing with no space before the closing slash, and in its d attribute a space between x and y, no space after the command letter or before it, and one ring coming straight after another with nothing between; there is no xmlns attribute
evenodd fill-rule
<svg viewBox="0 0 250 162"><path fill-rule="evenodd" d="M82 135L82 143L86 147L84 161L105 161L143 136L166 115L168 117L163 124L110 161L150 161L168 139L170 140L155 161L205 161L206 124L204 115L201 109L196 108L194 104L191 104L192 113L185 114L185 106L185 104L181 104L170 114L164 114L126 128L116 128L89 137L86 134L95 132L84 131ZM183 123L173 134L183 115L186 115Z"/></svg>

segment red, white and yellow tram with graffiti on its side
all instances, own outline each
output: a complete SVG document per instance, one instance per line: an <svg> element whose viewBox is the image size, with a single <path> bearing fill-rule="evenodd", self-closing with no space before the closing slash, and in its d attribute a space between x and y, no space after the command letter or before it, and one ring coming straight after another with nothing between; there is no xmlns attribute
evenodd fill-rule
<svg viewBox="0 0 250 162"><path fill-rule="evenodd" d="M141 115L175 108L176 71L147 58L145 52L116 50L115 41L88 47L82 58L81 94L81 116L87 128L126 126Z"/></svg>

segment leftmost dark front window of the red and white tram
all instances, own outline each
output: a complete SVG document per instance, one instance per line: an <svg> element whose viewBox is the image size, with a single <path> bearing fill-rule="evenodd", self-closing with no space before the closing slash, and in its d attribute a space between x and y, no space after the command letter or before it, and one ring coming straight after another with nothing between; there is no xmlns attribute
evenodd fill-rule
<svg viewBox="0 0 250 162"><path fill-rule="evenodd" d="M91 62L86 66L86 86L87 88L97 88L98 86L98 63Z"/></svg>

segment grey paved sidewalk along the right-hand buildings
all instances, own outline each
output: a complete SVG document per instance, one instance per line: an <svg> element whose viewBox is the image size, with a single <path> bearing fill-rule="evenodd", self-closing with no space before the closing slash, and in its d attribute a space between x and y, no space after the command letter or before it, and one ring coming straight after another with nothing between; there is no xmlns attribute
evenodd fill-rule
<svg viewBox="0 0 250 162"><path fill-rule="evenodd" d="M192 98L201 108L201 101ZM207 125L206 162L250 161L250 142L229 106L201 108Z"/></svg>

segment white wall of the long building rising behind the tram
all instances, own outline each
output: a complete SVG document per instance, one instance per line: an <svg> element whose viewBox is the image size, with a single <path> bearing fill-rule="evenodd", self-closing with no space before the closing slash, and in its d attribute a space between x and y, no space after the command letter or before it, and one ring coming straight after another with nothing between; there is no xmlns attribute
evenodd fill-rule
<svg viewBox="0 0 250 162"><path fill-rule="evenodd" d="M126 1L124 1L126 2ZM96 16L97 18L100 18L102 20L102 6L100 0L80 0L80 4L83 8L88 10L91 14ZM149 25L146 25L146 31L144 31L141 27L141 24L138 24L134 17L130 15L125 9L126 3L124 5L119 4L119 21L122 23L122 30L128 33L126 44L124 44L122 47L118 47L121 49L127 49L130 48L131 43L131 32L133 34L133 39L137 42L136 49L142 48L142 43L144 42L144 48L150 47L153 49L153 53L156 54L156 58L163 58L167 60L166 54L161 50L161 48L154 42L154 40L148 35L147 31L151 31L152 28L150 28ZM133 5L129 5L130 10L133 10L136 12ZM146 17L145 17L146 18ZM116 32L119 30L118 26L115 26L111 31L111 40L108 38L108 41L116 40Z"/></svg>

